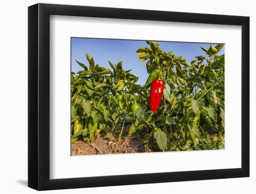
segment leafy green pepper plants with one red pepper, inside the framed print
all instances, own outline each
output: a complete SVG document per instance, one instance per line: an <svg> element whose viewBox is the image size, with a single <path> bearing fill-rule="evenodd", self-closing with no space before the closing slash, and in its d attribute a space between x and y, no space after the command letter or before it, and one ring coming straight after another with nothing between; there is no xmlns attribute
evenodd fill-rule
<svg viewBox="0 0 256 194"><path fill-rule="evenodd" d="M136 52L146 65L144 86L122 61L101 67L86 54L88 65L71 75L72 142L93 143L99 133L143 141L149 151L218 149L224 145L224 46L203 48L190 63L164 52L154 41ZM131 123L131 124L129 124Z"/></svg>

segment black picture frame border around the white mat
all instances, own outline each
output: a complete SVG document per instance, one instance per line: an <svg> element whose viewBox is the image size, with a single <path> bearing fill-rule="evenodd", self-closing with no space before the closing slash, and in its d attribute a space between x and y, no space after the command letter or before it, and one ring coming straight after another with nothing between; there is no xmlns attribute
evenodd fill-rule
<svg viewBox="0 0 256 194"><path fill-rule="evenodd" d="M242 167L153 174L53 179L50 175L50 15L242 26ZM28 7L28 187L102 187L249 176L249 17L123 8L36 4Z"/></svg>

